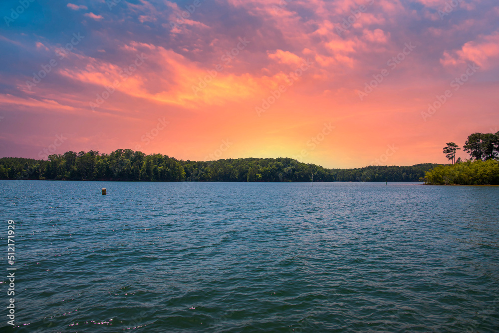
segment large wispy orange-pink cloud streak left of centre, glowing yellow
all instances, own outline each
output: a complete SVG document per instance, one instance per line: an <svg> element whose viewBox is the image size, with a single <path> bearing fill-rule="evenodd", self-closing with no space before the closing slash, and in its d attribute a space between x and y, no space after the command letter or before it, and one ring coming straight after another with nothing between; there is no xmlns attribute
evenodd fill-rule
<svg viewBox="0 0 499 333"><path fill-rule="evenodd" d="M161 46L140 42L130 42L121 48L130 54L133 64L136 54L144 54L144 64L136 66L131 75L126 75L123 68L101 59L75 54L78 67L65 68L60 75L81 83L99 86L94 88L100 92L104 87L118 82L115 90L131 97L149 100L153 103L178 105L186 108L198 108L200 104L220 105L227 101L240 101L262 92L268 81L278 80L276 77L258 78L250 74L235 75L224 70L217 72L215 67L203 68L186 57ZM133 52L133 53L132 53ZM146 53L142 53L146 52ZM147 68L154 64L154 70ZM216 73L210 76L207 70ZM202 78L208 84L195 93L193 87L199 86ZM93 97L92 97L93 98ZM92 101L92 100L89 100ZM104 105L111 106L111 103Z"/></svg>

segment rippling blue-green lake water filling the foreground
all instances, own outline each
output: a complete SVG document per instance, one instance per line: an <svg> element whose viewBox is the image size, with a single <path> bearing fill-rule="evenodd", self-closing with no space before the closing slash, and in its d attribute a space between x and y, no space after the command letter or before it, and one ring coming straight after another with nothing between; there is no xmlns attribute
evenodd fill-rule
<svg viewBox="0 0 499 333"><path fill-rule="evenodd" d="M498 202L417 183L0 181L0 328L15 267L25 332L498 332Z"/></svg>

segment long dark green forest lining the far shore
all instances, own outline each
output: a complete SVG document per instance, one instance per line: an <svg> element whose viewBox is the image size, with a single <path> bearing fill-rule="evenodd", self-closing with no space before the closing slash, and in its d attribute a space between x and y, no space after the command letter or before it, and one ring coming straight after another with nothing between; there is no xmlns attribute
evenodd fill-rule
<svg viewBox="0 0 499 333"><path fill-rule="evenodd" d="M325 169L290 158L244 158L209 162L183 161L161 154L118 149L110 154L97 151L65 152L48 160L0 158L0 179L107 180L107 181L419 181L438 164L413 166L368 166L358 169Z"/></svg>

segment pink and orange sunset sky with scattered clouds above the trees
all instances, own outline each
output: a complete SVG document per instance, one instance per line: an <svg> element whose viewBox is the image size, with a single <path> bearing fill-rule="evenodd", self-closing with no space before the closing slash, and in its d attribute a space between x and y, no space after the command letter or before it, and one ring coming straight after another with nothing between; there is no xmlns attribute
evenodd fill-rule
<svg viewBox="0 0 499 333"><path fill-rule="evenodd" d="M0 157L412 165L499 130L497 0L5 0L0 12Z"/></svg>

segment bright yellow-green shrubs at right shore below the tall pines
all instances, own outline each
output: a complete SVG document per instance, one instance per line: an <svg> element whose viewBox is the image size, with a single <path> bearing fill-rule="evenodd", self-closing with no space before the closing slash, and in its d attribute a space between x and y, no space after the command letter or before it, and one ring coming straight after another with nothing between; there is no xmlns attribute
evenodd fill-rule
<svg viewBox="0 0 499 333"><path fill-rule="evenodd" d="M439 165L426 172L428 185L499 185L499 161L489 159Z"/></svg>

